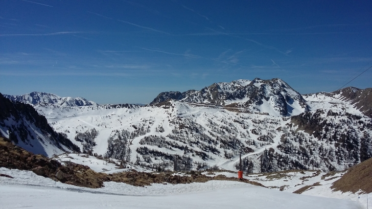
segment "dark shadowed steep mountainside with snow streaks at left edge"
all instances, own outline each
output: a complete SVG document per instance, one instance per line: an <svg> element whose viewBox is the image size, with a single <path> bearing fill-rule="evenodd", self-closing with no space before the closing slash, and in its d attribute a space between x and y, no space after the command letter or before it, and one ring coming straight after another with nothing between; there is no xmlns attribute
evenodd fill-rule
<svg viewBox="0 0 372 209"><path fill-rule="evenodd" d="M24 103L13 103L0 93L0 136L35 154L51 157L79 151L66 135L54 132L45 118Z"/></svg>

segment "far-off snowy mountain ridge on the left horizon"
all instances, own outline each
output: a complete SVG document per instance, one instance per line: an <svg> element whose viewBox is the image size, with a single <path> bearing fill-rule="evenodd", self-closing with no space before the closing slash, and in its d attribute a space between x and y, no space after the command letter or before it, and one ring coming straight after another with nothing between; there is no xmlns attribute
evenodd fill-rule
<svg viewBox="0 0 372 209"><path fill-rule="evenodd" d="M12 100L13 102L22 102L25 104L36 105L39 103L50 103L56 104L63 107L79 107L79 106L91 106L98 105L93 101L88 101L82 97L60 97L52 93L43 92L31 92L23 95L7 95L4 94L5 98Z"/></svg>

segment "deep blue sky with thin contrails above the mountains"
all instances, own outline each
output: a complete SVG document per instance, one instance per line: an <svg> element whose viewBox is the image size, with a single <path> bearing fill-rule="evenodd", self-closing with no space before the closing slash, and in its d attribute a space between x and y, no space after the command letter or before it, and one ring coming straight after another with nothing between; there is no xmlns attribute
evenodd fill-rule
<svg viewBox="0 0 372 209"><path fill-rule="evenodd" d="M256 77L331 92L372 66L371 17L370 0L2 0L0 93L149 103Z"/></svg>

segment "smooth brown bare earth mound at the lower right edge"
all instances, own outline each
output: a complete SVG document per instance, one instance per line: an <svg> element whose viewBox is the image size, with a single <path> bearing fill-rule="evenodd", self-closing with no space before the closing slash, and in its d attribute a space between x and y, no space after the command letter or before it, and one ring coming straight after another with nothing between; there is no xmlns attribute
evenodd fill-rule
<svg viewBox="0 0 372 209"><path fill-rule="evenodd" d="M349 168L348 172L335 181L331 188L333 191L355 193L361 190L361 193L371 193L372 158Z"/></svg>

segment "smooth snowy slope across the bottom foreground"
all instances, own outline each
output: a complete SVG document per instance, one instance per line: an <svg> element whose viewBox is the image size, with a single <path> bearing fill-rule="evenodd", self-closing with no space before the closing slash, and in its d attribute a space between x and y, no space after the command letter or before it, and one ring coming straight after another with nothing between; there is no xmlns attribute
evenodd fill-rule
<svg viewBox="0 0 372 209"><path fill-rule="evenodd" d="M30 171L0 168L0 173L14 177L0 177L1 209L363 208L355 201L292 194L229 181L147 187L111 182L103 188L89 189L55 183Z"/></svg>

